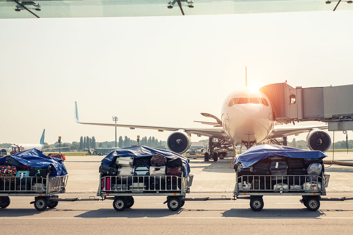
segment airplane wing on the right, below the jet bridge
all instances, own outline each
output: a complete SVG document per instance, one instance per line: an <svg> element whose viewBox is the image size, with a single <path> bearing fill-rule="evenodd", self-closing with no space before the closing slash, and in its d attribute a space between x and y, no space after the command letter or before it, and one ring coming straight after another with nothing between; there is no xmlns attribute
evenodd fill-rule
<svg viewBox="0 0 353 235"><path fill-rule="evenodd" d="M309 132L315 128L320 130L325 130L325 129L328 129L328 125L291 126L291 127L279 126L273 129L272 134L269 136L268 139L276 139L276 138L281 138L289 135L297 135L297 134Z"/></svg>

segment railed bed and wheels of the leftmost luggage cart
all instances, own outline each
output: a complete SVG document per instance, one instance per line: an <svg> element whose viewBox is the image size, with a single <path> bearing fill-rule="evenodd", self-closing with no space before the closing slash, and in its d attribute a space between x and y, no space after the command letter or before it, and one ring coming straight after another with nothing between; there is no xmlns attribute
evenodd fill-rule
<svg viewBox="0 0 353 235"><path fill-rule="evenodd" d="M10 205L10 197L35 197L34 207L38 211L58 205L58 194L65 193L67 175L58 177L0 177L0 207Z"/></svg>

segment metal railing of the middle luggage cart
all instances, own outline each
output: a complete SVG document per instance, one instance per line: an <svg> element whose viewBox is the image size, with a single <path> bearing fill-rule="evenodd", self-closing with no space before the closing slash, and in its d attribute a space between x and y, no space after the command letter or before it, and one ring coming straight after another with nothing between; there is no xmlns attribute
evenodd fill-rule
<svg viewBox="0 0 353 235"><path fill-rule="evenodd" d="M102 176L97 196L116 196L116 194L146 193L157 195L185 196L190 192L193 175L134 175Z"/></svg>

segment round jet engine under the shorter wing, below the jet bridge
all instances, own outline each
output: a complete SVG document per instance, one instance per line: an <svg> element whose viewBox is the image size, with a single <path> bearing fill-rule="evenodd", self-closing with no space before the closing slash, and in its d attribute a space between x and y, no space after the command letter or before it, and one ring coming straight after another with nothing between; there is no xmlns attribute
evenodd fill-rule
<svg viewBox="0 0 353 235"><path fill-rule="evenodd" d="M331 147L331 137L322 130L312 130L306 136L306 147L310 150L326 152Z"/></svg>

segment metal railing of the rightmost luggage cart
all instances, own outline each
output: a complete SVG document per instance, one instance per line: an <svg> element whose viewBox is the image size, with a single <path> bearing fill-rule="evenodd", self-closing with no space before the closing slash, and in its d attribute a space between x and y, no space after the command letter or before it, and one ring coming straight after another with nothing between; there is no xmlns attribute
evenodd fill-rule
<svg viewBox="0 0 353 235"><path fill-rule="evenodd" d="M302 195L325 196L330 175L242 175L234 188L234 197L240 195ZM303 188L303 185L310 186ZM320 187L321 185L321 187ZM314 193L314 194L313 194Z"/></svg>

